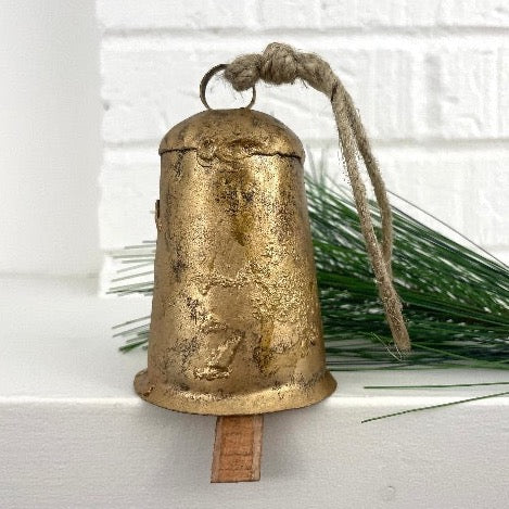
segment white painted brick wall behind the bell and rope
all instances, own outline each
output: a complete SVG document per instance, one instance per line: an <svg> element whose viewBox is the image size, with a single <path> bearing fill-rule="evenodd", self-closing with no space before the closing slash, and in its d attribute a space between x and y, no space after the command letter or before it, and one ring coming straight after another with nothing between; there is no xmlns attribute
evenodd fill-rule
<svg viewBox="0 0 509 509"><path fill-rule="evenodd" d="M98 0L97 13L106 254L155 236L158 141L202 110L202 75L278 40L323 55L338 72L390 188L509 259L509 2ZM226 87L211 94L213 104L240 104ZM344 179L326 98L259 86L256 107L315 155L323 151Z"/></svg>

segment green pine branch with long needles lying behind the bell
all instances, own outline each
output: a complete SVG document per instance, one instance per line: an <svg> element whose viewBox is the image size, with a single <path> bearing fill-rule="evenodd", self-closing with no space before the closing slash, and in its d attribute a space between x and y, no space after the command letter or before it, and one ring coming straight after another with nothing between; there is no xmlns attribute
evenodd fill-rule
<svg viewBox="0 0 509 509"><path fill-rule="evenodd" d="M506 265L393 207L393 272L413 347L402 357L385 322L352 200L323 175L307 178L306 184L329 369L509 369ZM110 293L152 295L154 254L153 241L116 254L125 265L117 281L125 282ZM120 349L144 346L149 326L150 317L117 326L117 335L126 340Z"/></svg>

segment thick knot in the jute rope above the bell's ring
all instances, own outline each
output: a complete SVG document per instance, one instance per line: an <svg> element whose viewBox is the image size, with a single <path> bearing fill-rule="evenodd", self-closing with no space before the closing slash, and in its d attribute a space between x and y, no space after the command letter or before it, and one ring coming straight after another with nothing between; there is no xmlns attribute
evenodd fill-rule
<svg viewBox="0 0 509 509"><path fill-rule="evenodd" d="M281 85L298 77L298 55L291 46L272 42L262 54L238 56L225 69L225 78L239 92L252 88L258 79Z"/></svg>

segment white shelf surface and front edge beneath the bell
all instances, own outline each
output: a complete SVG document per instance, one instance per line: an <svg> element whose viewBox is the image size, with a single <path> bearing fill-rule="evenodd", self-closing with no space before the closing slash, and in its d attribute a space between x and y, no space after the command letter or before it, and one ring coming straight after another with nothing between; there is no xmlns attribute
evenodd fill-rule
<svg viewBox="0 0 509 509"><path fill-rule="evenodd" d="M365 385L509 381L491 370L336 373L326 402L265 418L262 480L209 484L215 418L138 398L145 352L115 323L150 301L101 298L94 281L0 280L1 508L507 508L509 397L361 424L505 391ZM509 390L509 387L506 386Z"/></svg>

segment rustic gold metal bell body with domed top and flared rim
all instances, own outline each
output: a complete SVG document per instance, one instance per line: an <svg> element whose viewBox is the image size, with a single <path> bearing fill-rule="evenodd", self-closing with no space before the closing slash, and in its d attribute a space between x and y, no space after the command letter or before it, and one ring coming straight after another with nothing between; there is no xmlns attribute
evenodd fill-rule
<svg viewBox="0 0 509 509"><path fill-rule="evenodd" d="M161 192L144 399L247 415L317 403L326 370L304 189L304 151L283 124L212 110L160 148Z"/></svg>

